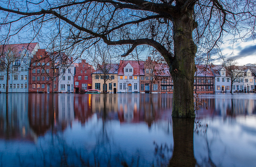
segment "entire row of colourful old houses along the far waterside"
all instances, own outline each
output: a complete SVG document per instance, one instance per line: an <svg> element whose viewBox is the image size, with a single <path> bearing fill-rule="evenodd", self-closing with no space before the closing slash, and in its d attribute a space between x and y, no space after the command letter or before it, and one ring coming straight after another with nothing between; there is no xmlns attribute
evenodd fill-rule
<svg viewBox="0 0 256 167"><path fill-rule="evenodd" d="M172 93L173 80L165 64L147 57L145 61L120 60L97 67L86 60L73 62L65 53L47 52L38 43L12 44L16 60L9 68L8 85L4 57L0 63L0 91L9 93L82 93L98 89L108 93ZM2 47L2 46L1 46ZM3 50L4 53L4 50ZM4 55L4 54L3 54ZM1 68L2 66L2 68ZM229 73L223 65L196 65L196 93L249 92L256 89L256 67L239 66L243 75L231 87ZM105 83L104 83L105 81Z"/></svg>

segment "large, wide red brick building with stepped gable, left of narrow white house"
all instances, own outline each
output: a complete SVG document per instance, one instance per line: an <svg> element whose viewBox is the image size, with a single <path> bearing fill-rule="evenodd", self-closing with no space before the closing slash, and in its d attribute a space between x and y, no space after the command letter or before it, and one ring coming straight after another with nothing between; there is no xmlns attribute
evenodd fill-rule
<svg viewBox="0 0 256 167"><path fill-rule="evenodd" d="M28 92L52 93L52 84L54 92L58 92L58 75L58 62L52 60L51 54L45 49L38 49L29 67Z"/></svg>

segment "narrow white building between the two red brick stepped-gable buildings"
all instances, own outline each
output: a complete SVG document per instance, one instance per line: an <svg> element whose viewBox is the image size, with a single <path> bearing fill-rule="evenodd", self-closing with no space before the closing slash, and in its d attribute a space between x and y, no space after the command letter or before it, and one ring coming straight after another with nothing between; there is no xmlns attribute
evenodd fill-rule
<svg viewBox="0 0 256 167"><path fill-rule="evenodd" d="M73 92L73 84L74 84L74 73L75 67L74 64L71 64L67 67L67 69L60 70L62 71L59 75L59 92Z"/></svg>

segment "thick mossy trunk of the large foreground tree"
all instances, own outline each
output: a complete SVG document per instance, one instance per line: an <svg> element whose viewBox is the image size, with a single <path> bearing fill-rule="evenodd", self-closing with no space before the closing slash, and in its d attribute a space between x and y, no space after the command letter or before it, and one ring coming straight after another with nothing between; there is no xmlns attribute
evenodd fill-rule
<svg viewBox="0 0 256 167"><path fill-rule="evenodd" d="M197 46L192 37L193 8L173 19L174 59L170 67L173 77L173 117L195 117L194 74ZM194 26L193 26L194 24Z"/></svg>

